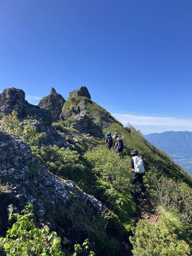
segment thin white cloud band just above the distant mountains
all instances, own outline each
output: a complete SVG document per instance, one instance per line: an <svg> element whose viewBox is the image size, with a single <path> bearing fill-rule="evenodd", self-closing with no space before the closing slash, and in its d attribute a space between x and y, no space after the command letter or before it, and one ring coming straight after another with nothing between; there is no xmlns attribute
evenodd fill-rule
<svg viewBox="0 0 192 256"><path fill-rule="evenodd" d="M113 116L117 118L122 124L126 125L128 122L132 125L146 125L146 126L177 126L177 127L191 127L191 119L182 119L175 117L151 117L140 115L129 115L114 113Z"/></svg>

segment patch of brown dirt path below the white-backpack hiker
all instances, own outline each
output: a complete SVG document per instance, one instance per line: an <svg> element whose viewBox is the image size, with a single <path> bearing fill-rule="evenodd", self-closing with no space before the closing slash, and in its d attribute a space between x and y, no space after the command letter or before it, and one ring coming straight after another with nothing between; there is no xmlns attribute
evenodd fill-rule
<svg viewBox="0 0 192 256"><path fill-rule="evenodd" d="M155 210L154 205L147 198L136 198L136 204L136 218L146 220L151 224L158 223L158 212Z"/></svg>

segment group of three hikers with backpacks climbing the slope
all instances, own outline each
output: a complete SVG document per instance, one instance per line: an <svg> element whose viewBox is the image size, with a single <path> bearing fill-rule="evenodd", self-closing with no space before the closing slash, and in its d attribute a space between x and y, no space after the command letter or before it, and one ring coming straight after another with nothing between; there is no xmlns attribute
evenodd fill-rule
<svg viewBox="0 0 192 256"><path fill-rule="evenodd" d="M121 138L119 138L117 132L112 136L109 131L105 137L105 143L107 148L110 150L113 147L113 140L116 141L114 148L116 148L119 156L122 156L122 151L124 149L124 144ZM141 188L141 195L144 195L145 188L143 186L143 175L145 173L145 167L143 163L143 155L139 154L137 149L133 149L131 152L132 158L130 160L132 174L134 175L134 184L139 183Z"/></svg>

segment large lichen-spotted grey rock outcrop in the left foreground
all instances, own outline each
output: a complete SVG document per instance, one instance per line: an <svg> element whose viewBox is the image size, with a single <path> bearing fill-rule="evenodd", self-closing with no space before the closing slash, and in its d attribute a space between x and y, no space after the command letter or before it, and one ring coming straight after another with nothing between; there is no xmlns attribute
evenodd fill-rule
<svg viewBox="0 0 192 256"><path fill-rule="evenodd" d="M101 211L101 204L93 196L77 189L73 181L63 184L50 173L45 166L41 166L38 160L31 155L30 147L15 135L9 135L0 131L0 179L9 181L4 194L4 201L0 203L0 209L4 208L0 221L3 223L9 208L10 211L23 209L24 205L33 203L35 215L38 218L45 214L46 205L62 205L70 203L68 189L79 196L81 201L87 201L97 212ZM11 204L11 205L10 205Z"/></svg>

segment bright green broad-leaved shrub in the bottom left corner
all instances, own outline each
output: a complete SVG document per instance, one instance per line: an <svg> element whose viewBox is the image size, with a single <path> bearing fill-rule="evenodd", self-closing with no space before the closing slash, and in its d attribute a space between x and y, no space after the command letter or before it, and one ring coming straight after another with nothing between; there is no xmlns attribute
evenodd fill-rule
<svg viewBox="0 0 192 256"><path fill-rule="evenodd" d="M41 229L35 227L32 204L21 213L10 215L9 220L16 222L7 230L6 237L0 238L6 255L65 255L61 250L61 239L55 232L49 233L47 226Z"/></svg>

